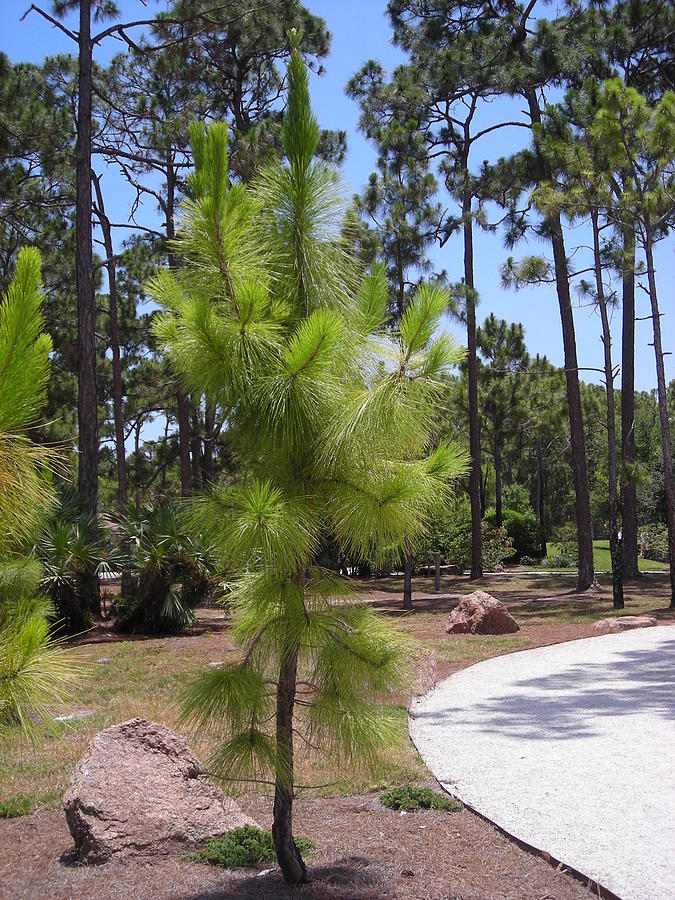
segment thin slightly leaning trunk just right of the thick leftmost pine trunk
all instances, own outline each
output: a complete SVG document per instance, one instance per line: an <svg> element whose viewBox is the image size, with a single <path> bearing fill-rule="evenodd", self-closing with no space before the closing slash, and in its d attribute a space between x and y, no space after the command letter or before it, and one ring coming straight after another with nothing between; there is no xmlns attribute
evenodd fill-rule
<svg viewBox="0 0 675 900"><path fill-rule="evenodd" d="M110 307L110 350L113 370L113 421L115 424L115 462L117 465L117 505L123 510L127 505L127 461L124 449L124 402L122 389L122 363L120 359L120 334L117 321L117 267L115 265L110 219L105 213L100 176L91 173L96 191L96 214L103 232L103 246L107 259L108 296Z"/></svg>

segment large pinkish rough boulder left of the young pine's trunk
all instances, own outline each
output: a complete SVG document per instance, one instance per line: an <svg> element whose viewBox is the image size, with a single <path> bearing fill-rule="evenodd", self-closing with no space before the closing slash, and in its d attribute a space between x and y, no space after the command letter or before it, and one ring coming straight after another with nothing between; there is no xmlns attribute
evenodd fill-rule
<svg viewBox="0 0 675 900"><path fill-rule="evenodd" d="M175 732L131 719L100 732L63 801L79 859L185 852L239 825L255 825L205 776Z"/></svg>

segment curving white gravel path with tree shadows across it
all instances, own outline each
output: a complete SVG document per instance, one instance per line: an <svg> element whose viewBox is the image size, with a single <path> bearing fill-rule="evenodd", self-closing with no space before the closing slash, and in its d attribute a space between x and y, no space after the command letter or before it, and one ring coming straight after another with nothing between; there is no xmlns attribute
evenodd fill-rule
<svg viewBox="0 0 675 900"><path fill-rule="evenodd" d="M451 639L451 638L450 638ZM477 663L415 700L447 790L624 900L675 898L675 627Z"/></svg>

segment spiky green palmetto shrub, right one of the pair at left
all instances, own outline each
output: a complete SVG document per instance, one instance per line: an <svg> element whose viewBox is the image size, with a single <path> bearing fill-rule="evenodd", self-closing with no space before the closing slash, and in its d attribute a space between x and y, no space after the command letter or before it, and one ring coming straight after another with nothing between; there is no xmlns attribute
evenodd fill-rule
<svg viewBox="0 0 675 900"><path fill-rule="evenodd" d="M213 560L187 532L171 504L130 510L118 520L128 588L117 604L123 631L180 631L195 621L193 608L212 589Z"/></svg>

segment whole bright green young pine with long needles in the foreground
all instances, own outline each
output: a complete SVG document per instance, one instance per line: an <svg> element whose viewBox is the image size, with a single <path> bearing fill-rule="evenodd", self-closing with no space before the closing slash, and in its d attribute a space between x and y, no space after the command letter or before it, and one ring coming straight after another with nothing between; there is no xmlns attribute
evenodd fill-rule
<svg viewBox="0 0 675 900"><path fill-rule="evenodd" d="M414 544L466 460L433 448L442 377L458 359L438 333L447 297L423 287L397 333L382 268L362 277L341 243L336 175L314 158L318 126L292 40L283 145L251 189L228 182L227 132L193 128L193 199L151 293L156 333L196 395L228 410L247 473L193 519L236 573L228 602L241 663L191 688L186 717L221 738L212 769L271 779L273 835L289 882L307 879L293 840L294 735L372 759L392 721L376 702L402 643L349 583L319 565L326 535L353 558Z"/></svg>

